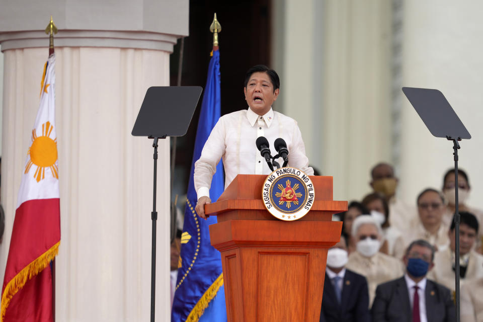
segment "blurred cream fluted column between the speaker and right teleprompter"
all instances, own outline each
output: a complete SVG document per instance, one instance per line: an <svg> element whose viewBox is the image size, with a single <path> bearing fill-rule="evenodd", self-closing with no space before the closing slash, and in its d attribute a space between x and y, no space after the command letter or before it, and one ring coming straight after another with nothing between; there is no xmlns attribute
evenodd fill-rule
<svg viewBox="0 0 483 322"><path fill-rule="evenodd" d="M327 1L324 12L324 173L335 199L370 192L369 170L390 158L390 2Z"/></svg>

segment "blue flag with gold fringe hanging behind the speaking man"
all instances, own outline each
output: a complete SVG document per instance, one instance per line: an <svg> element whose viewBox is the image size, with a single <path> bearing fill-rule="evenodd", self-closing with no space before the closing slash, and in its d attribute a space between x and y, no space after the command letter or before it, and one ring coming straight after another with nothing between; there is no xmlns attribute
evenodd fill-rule
<svg viewBox="0 0 483 322"><path fill-rule="evenodd" d="M200 158L211 130L220 118L220 53L213 51L201 104L196 131L195 148L188 185L185 222L181 237L181 256L178 280L171 313L172 322L226 321L226 306L220 253L211 246L208 226L216 217L207 220L195 212L198 200L193 183L195 162ZM211 181L210 198L215 201L224 190L223 166L220 162Z"/></svg>

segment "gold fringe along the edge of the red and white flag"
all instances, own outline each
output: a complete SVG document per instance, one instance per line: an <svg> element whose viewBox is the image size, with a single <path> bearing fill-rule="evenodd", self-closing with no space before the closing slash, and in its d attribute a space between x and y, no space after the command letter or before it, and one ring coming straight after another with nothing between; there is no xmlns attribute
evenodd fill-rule
<svg viewBox="0 0 483 322"><path fill-rule="evenodd" d="M7 312L7 307L10 304L10 300L14 295L24 287L25 283L32 277L40 273L44 268L46 268L54 257L59 252L60 241L52 246L47 252L40 255L29 265L27 265L23 270L21 270L17 275L5 287L5 291L2 294L2 308L0 310L0 320L4 320L5 313Z"/></svg>

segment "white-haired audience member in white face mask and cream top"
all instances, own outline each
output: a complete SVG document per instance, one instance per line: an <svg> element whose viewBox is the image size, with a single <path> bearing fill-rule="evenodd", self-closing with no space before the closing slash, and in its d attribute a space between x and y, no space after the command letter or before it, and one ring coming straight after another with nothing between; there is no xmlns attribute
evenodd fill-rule
<svg viewBox="0 0 483 322"><path fill-rule="evenodd" d="M352 236L356 241L356 252L349 255L346 268L366 277L370 305L376 286L403 275L403 265L401 261L379 252L382 230L372 216L357 217L352 224Z"/></svg>

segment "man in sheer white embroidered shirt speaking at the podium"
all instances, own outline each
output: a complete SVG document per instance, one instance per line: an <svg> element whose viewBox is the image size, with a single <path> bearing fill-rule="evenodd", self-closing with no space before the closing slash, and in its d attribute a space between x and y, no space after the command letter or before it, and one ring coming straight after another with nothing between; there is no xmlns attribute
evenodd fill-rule
<svg viewBox="0 0 483 322"><path fill-rule="evenodd" d="M260 136L266 137L270 144L277 138L284 139L289 151L288 165L313 175L297 122L272 110L272 103L280 93L277 72L264 65L250 68L245 75L243 91L248 109L220 117L195 163L194 184L198 194L195 209L205 219L204 205L211 202L211 179L221 158L225 189L238 174L268 175L272 172L255 144ZM276 154L274 150L271 152Z"/></svg>

